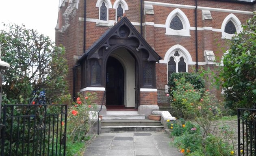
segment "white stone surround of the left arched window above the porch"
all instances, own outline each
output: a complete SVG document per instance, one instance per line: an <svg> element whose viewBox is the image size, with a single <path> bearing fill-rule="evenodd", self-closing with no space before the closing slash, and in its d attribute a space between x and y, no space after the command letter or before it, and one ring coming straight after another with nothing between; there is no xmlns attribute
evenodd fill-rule
<svg viewBox="0 0 256 156"><path fill-rule="evenodd" d="M102 3L105 3L105 6L107 8L107 17L106 17L106 21L104 20L100 20L100 6L102 6ZM108 9L111 9L112 8L112 4L110 2L110 0L97 0L97 3L96 3L96 7L99 8L99 18L96 22L97 25L100 25L100 26L110 26L112 25L112 23L110 23L108 21Z"/></svg>

